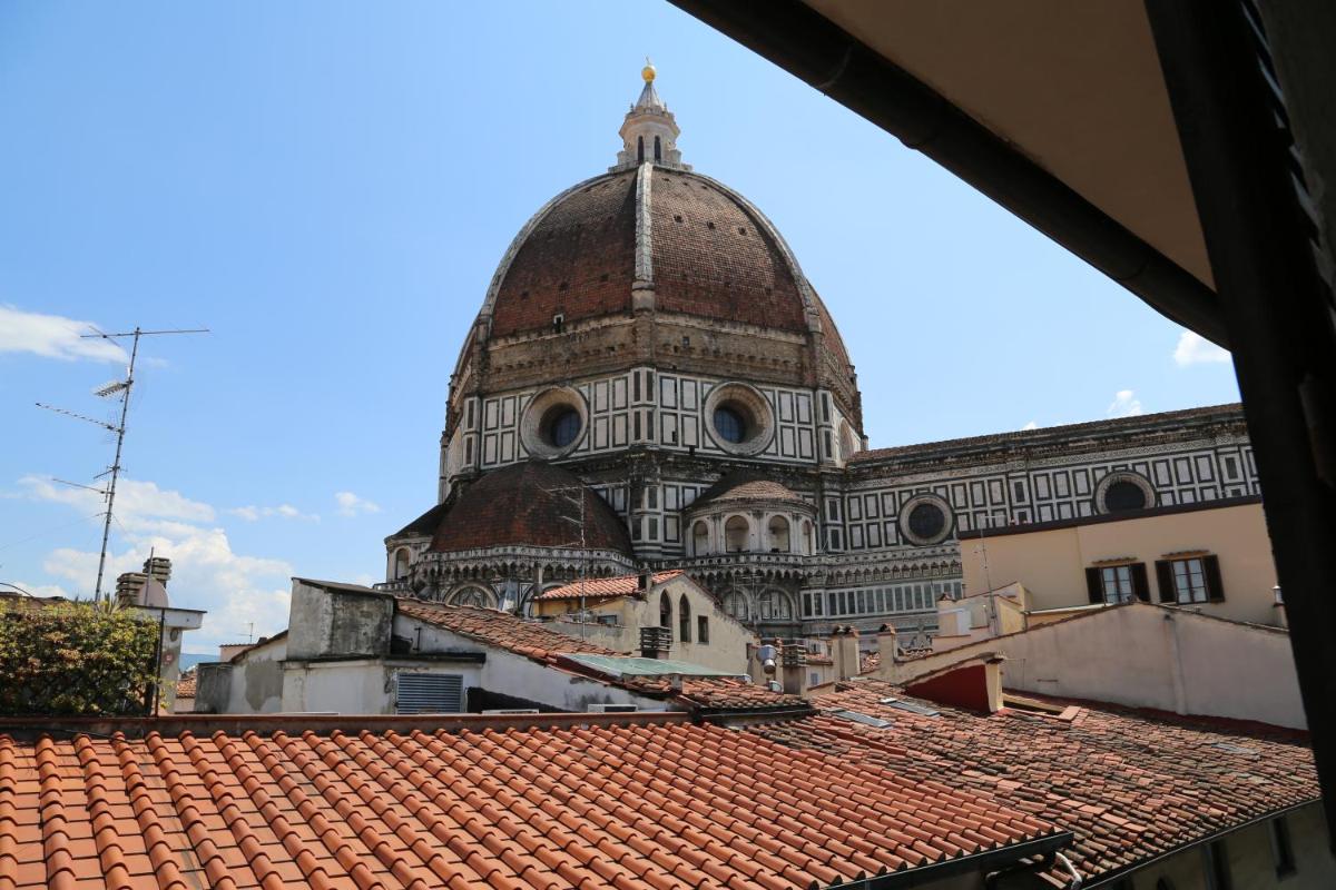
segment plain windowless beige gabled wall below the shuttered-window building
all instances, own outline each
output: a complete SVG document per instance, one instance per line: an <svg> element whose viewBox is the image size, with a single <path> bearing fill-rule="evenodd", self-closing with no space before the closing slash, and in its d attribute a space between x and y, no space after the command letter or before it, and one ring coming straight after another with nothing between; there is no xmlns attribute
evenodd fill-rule
<svg viewBox="0 0 1336 890"><path fill-rule="evenodd" d="M887 667L904 682L969 655L1006 656L1009 690L1305 729L1289 634L1130 603Z"/></svg>

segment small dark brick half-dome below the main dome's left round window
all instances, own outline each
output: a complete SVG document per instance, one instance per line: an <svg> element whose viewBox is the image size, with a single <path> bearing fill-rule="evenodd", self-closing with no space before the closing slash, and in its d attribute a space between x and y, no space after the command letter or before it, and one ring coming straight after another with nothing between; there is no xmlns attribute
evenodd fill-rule
<svg viewBox="0 0 1336 890"><path fill-rule="evenodd" d="M573 550L580 528L580 487L585 511L585 547L635 556L621 519L596 491L561 467L541 460L510 464L485 474L444 504L432 550L450 552L484 547L528 546ZM565 488L566 491L560 491Z"/></svg>

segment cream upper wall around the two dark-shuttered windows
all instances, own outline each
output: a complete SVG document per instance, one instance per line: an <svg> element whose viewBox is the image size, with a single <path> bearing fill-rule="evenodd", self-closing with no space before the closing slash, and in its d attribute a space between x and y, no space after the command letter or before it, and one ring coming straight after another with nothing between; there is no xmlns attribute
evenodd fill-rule
<svg viewBox="0 0 1336 890"><path fill-rule="evenodd" d="M1030 610L1089 603L1085 570L1100 560L1124 558L1145 563L1150 600L1160 602L1156 560L1206 551L1220 558L1225 599L1192 607L1217 618L1279 624L1272 594L1276 566L1260 503L1047 531L1007 530L967 544L961 554L966 587L983 591L990 580L994 588L1019 582L1030 594Z"/></svg>

